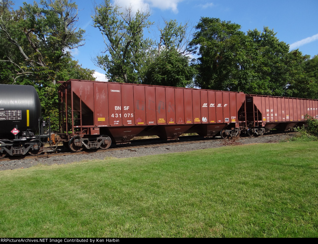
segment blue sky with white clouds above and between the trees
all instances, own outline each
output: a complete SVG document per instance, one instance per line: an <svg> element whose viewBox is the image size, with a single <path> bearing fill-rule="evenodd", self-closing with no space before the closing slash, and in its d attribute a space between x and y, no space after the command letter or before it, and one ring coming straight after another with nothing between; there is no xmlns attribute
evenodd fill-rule
<svg viewBox="0 0 318 244"><path fill-rule="evenodd" d="M22 2L33 0L13 0L15 7ZM39 0L37 0L39 2ZM74 2L74 0L72 0ZM97 80L105 80L103 69L96 67L92 59L100 55L105 44L97 28L92 27L94 2L104 0L76 0L79 11L78 27L86 30L85 45L73 50L75 60L83 68L96 71ZM115 1L112 0L112 3ZM241 30L263 30L264 26L274 29L276 37L286 42L291 49L299 49L311 57L318 55L318 0L117 0L120 6L132 4L134 9L141 6L150 9L152 26L150 37L156 38L157 26L163 26L164 19L176 19L178 23L189 22L192 26L201 17L220 18L241 25Z"/></svg>

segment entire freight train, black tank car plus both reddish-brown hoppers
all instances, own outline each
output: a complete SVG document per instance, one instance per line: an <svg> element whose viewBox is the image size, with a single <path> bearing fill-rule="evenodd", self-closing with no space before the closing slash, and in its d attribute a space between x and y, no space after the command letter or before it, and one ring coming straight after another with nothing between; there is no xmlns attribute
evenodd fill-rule
<svg viewBox="0 0 318 244"><path fill-rule="evenodd" d="M135 136L222 138L286 131L318 119L318 100L89 80L60 81L59 132L44 133L34 87L0 85L0 158L59 141L72 151L107 149Z"/></svg>

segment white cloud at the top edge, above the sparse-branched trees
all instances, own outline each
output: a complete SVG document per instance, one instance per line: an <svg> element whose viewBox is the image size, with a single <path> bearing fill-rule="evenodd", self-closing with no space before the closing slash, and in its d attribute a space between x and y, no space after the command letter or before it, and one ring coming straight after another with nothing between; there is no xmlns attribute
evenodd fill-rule
<svg viewBox="0 0 318 244"><path fill-rule="evenodd" d="M178 13L178 3L184 0L116 0L121 7L132 6L132 10L136 12L138 9L158 8L161 10L172 10Z"/></svg>

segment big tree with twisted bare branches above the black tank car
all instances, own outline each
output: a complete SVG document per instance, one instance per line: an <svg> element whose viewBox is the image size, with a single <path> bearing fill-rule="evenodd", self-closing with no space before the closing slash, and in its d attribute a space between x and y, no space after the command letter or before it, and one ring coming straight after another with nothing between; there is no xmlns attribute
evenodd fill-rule
<svg viewBox="0 0 318 244"><path fill-rule="evenodd" d="M10 83L26 76L55 84L57 74L71 58L70 50L84 45L84 30L76 30L77 5L72 0L23 3L18 10L3 0L0 6L1 65ZM10 73L10 74L9 74Z"/></svg>

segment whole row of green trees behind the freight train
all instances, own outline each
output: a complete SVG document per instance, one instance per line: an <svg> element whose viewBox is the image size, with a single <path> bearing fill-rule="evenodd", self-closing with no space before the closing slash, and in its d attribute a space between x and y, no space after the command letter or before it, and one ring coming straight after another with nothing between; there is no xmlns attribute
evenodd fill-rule
<svg viewBox="0 0 318 244"><path fill-rule="evenodd" d="M85 46L76 3L40 0L16 10L10 0L0 5L0 83L33 85L44 116L57 118L56 81L95 80L94 70L71 53ZM165 20L158 38L149 38L149 10L134 13L105 0L94 11L105 50L93 61L110 82L318 98L318 56L290 51L268 27L244 32L218 18L202 17L195 26Z"/></svg>

